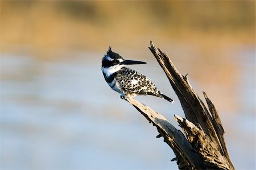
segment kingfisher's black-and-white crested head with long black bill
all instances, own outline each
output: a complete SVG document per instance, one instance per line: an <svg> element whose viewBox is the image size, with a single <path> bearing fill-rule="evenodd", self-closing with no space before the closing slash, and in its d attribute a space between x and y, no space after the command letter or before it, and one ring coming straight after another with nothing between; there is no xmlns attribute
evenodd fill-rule
<svg viewBox="0 0 256 170"><path fill-rule="evenodd" d="M102 69L110 68L110 67L118 67L122 68L125 65L131 64L146 64L143 61L134 61L134 60L125 60L121 57L118 53L115 53L109 47L108 51L106 52L105 56L102 58Z"/></svg>

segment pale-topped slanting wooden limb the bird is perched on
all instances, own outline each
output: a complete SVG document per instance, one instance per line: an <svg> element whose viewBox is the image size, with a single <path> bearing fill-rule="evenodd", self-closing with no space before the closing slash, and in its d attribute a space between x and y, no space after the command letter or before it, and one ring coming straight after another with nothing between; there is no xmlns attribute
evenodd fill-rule
<svg viewBox="0 0 256 170"><path fill-rule="evenodd" d="M156 126L159 132L159 135L156 137L163 136L164 142L172 148L176 155L179 169L205 169L203 161L201 161L199 155L185 138L184 134L168 122L163 115L156 113L150 107L134 98L127 98L126 100Z"/></svg>

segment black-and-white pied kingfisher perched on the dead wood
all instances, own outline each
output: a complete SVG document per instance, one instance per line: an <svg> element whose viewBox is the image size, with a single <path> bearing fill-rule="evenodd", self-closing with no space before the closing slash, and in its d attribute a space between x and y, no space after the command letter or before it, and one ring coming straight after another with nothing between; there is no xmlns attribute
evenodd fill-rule
<svg viewBox="0 0 256 170"><path fill-rule="evenodd" d="M109 50L102 58L101 69L104 78L113 90L121 94L122 99L148 94L164 98L172 103L174 102L173 99L161 93L146 76L134 69L125 67L125 65L131 64L146 63L143 61L125 60L118 53L113 52L111 47L109 47Z"/></svg>

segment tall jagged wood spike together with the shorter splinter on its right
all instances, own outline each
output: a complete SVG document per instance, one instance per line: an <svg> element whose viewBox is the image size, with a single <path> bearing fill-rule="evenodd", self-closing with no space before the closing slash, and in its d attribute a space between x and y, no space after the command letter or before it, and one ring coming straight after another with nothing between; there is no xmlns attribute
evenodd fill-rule
<svg viewBox="0 0 256 170"><path fill-rule="evenodd" d="M186 118L194 125L198 125L204 130L204 132L209 136L211 142L215 144L217 151L219 151L221 155L225 156L228 160L229 168L234 169L228 151L226 150L226 144L223 137L224 130L218 114L216 114L217 110L215 107L213 109L212 105L210 105L211 102L205 98L207 99L208 107L212 113L212 115L210 115L203 101L201 101L195 90L193 90L192 86L189 84L187 75L182 76L164 52L159 48L156 48L152 42L150 42L150 45L150 51L166 73L172 88L179 97Z"/></svg>

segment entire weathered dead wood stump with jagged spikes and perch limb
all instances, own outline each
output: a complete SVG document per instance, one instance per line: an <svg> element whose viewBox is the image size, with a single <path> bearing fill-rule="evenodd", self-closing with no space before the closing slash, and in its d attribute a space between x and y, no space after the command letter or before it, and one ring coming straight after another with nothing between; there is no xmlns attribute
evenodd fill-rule
<svg viewBox="0 0 256 170"><path fill-rule="evenodd" d="M207 107L189 84L187 75L182 76L170 58L152 42L150 50L166 73L172 88L179 97L185 117L175 115L184 134L162 115L134 98L127 101L152 122L176 155L179 169L234 169L224 140L224 128L212 101L204 93Z"/></svg>

